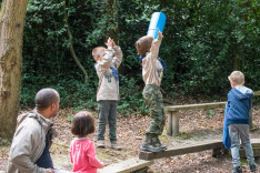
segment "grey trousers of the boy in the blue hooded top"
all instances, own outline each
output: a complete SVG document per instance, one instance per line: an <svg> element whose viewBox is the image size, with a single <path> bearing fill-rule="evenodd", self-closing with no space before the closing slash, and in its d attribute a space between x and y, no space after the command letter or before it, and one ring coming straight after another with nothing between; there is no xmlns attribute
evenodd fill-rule
<svg viewBox="0 0 260 173"><path fill-rule="evenodd" d="M248 124L229 124L229 136L231 140L231 154L233 167L240 166L240 139L246 151L247 160L250 165L254 165L254 157L252 145L249 139L249 125Z"/></svg>

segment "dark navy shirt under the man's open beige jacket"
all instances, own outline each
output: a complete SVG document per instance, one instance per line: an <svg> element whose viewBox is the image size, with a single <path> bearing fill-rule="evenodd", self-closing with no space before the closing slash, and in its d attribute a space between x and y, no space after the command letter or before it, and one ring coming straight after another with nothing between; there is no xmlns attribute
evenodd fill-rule
<svg viewBox="0 0 260 173"><path fill-rule="evenodd" d="M46 135L46 147L41 154L41 156L37 160L36 164L39 167L43 167L43 169L54 169L53 167L53 163L50 156L50 133L48 132Z"/></svg>

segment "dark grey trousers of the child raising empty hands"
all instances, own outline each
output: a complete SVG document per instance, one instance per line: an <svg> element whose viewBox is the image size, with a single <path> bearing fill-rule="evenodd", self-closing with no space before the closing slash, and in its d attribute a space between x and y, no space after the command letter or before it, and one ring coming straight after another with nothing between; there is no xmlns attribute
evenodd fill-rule
<svg viewBox="0 0 260 173"><path fill-rule="evenodd" d="M98 141L104 140L107 124L109 124L109 140L111 142L117 141L117 106L118 101L104 100L98 102Z"/></svg>

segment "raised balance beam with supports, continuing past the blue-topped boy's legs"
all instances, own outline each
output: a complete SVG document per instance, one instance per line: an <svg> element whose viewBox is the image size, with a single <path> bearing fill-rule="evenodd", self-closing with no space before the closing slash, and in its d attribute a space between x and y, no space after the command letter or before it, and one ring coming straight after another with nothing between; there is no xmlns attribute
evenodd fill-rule
<svg viewBox="0 0 260 173"><path fill-rule="evenodd" d="M251 139L251 145L253 149L253 156L260 157L260 139ZM162 159L176 155L182 155L188 153L201 152L204 150L213 150L212 156L217 155L219 151L226 150L222 143L222 140L211 140L207 142L199 142L196 144L183 145L179 147L169 147L167 151L163 152L143 152L140 151L139 157L142 160L154 160L154 159ZM240 146L240 156L246 157L246 153L243 146Z"/></svg>

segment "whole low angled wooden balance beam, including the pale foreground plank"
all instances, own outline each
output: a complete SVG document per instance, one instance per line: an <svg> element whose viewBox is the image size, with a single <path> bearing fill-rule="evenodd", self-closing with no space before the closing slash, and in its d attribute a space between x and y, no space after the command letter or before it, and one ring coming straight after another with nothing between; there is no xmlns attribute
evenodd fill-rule
<svg viewBox="0 0 260 173"><path fill-rule="evenodd" d="M260 156L260 139L251 139L253 153L256 157ZM138 157L133 157L127 161L111 164L103 169L98 170L98 173L144 173L154 159L176 156L181 154L194 153L204 150L213 150L212 155L218 154L219 151L224 150L222 140L211 140L207 142L199 142L197 144L187 144L181 147L169 147L167 151L151 153L141 151ZM241 147L241 157L244 155L244 151Z"/></svg>

